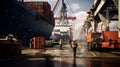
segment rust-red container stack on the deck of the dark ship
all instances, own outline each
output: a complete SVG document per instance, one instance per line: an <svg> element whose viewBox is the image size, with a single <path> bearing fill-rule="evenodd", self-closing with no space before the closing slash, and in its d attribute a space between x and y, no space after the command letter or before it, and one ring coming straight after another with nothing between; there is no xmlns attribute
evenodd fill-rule
<svg viewBox="0 0 120 67"><path fill-rule="evenodd" d="M24 2L24 4L30 9L37 12L37 17L44 17L50 24L55 25L53 13L51 11L51 6L48 2L40 1L40 2Z"/></svg>

